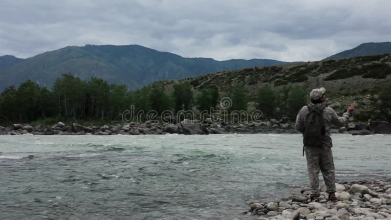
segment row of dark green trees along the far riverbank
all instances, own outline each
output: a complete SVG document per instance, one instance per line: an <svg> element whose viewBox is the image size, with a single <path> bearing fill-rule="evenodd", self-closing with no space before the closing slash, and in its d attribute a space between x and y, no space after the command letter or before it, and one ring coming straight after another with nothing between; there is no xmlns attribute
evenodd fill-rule
<svg viewBox="0 0 391 220"><path fill-rule="evenodd" d="M224 96L232 100L228 111L261 110L264 118L290 117L308 101L308 92L302 86L285 86L282 89L266 85L256 95L248 96L243 85L233 85ZM383 93L382 93L383 94ZM389 98L389 93L381 97ZM58 78L52 88L40 87L27 80L18 88L11 86L0 93L0 123L29 123L52 118L62 121L120 120L122 112L133 105L135 111L164 110L176 113L179 110L219 109L220 93L215 86L194 92L189 83L178 83L172 91L153 84L136 91L129 91L125 85L109 84L103 79L92 77L89 81L67 73ZM249 107L249 103L254 103ZM388 105L390 101L383 102ZM382 106L383 112L390 109ZM387 109L388 108L388 109Z"/></svg>

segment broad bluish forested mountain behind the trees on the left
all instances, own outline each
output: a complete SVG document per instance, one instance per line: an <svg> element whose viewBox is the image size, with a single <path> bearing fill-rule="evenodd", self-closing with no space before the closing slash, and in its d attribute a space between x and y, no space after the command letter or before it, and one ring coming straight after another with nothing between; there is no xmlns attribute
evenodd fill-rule
<svg viewBox="0 0 391 220"><path fill-rule="evenodd" d="M0 57L0 90L27 79L50 87L63 73L82 80L92 76L131 90L165 79L181 79L228 69L271 66L286 62L265 59L216 61L184 58L140 45L67 46L28 59ZM3 60L3 61L2 61Z"/></svg>

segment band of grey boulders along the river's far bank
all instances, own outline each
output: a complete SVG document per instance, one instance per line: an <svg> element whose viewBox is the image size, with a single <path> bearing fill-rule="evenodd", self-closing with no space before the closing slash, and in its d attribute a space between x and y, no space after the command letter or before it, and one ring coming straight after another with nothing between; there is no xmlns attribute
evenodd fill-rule
<svg viewBox="0 0 391 220"><path fill-rule="evenodd" d="M391 133L391 124L384 121L371 121L368 125L364 123L349 123L347 126L332 129L332 133L351 133L352 135L367 135L374 133ZM224 122L214 123L212 119L207 118L204 122L196 120L183 120L176 124L159 125L158 123L147 121L145 123L129 123L117 125L90 125L82 126L73 123L65 125L58 122L53 126L30 126L25 124L14 124L10 127L1 127L0 134L19 135L19 134L224 134L224 133L297 133L293 129L292 122L288 118L280 120L270 119L264 122L251 122L243 124L226 124Z"/></svg>

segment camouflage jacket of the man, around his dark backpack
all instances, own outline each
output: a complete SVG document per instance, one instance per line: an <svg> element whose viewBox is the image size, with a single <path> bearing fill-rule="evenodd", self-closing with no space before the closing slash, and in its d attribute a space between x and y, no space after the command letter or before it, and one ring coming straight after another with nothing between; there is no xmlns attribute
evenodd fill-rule
<svg viewBox="0 0 391 220"><path fill-rule="evenodd" d="M320 103L319 104L312 104L311 103L310 105L313 105L315 108L319 108L322 104L320 104ZM305 116L307 114L308 114L308 107L304 106L300 110L299 114L296 117L295 128L299 132L304 133L304 121L305 121ZM333 143L332 143L331 137L330 137L330 128L332 128L333 125L339 126L339 127L345 125L350 117L350 114L348 112L345 112L342 115L342 117L340 117L340 116L338 116L337 112L335 112L335 110L331 109L330 107L326 107L323 110L322 117L323 117L323 122L324 122L325 130L326 130L325 140L323 141L323 146L331 148L333 146Z"/></svg>

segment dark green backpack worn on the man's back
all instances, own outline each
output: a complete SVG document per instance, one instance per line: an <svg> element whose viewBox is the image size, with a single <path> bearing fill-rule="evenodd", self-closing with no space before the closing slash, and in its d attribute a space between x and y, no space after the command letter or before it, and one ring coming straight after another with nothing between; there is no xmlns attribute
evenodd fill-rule
<svg viewBox="0 0 391 220"><path fill-rule="evenodd" d="M308 114L304 120L303 144L308 147L322 147L325 138L322 113L326 108L326 104L322 104L319 109L315 109L312 105L307 105L307 107Z"/></svg>

